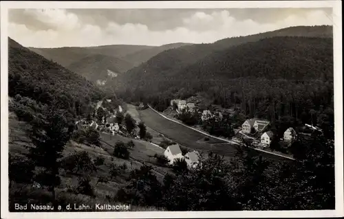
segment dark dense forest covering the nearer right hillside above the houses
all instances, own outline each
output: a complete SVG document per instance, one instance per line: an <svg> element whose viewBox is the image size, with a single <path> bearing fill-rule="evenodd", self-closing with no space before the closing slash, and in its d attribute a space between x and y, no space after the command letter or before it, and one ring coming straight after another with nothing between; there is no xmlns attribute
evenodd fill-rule
<svg viewBox="0 0 344 219"><path fill-rule="evenodd" d="M213 104L239 108L248 117L273 123L291 117L328 129L333 137L332 45L332 38L266 38L214 52L179 70L129 71L122 77L128 86L117 92L160 111L176 97L206 93Z"/></svg>

